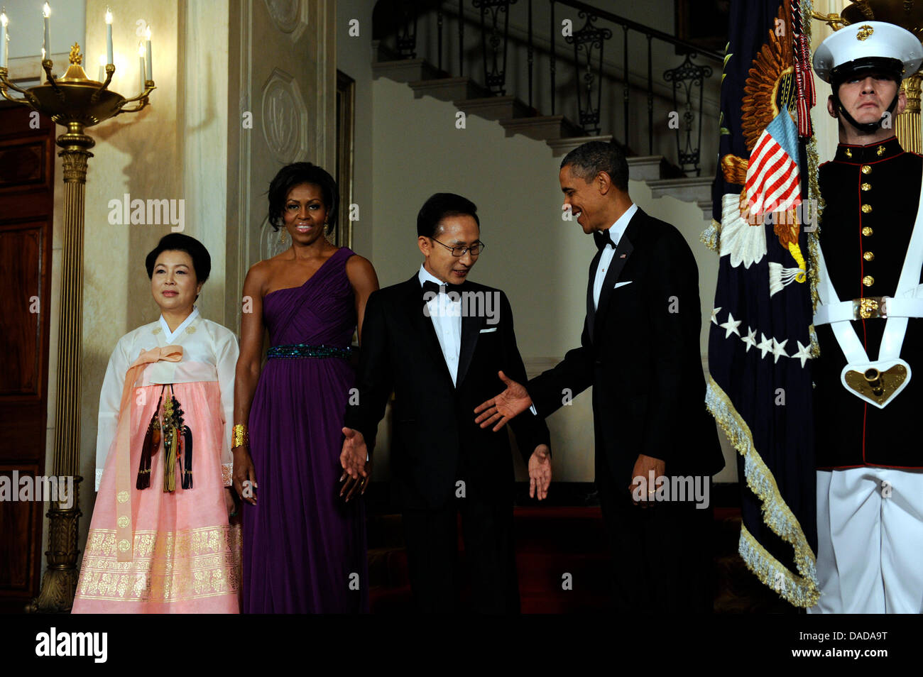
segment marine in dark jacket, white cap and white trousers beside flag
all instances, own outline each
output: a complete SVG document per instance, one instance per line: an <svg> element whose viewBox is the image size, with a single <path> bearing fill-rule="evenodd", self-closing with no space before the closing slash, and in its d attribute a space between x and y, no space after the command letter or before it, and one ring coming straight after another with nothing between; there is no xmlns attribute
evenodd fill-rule
<svg viewBox="0 0 923 677"><path fill-rule="evenodd" d="M839 118L840 144L820 168L826 207L814 408L821 600L809 612L923 611L923 299L914 300L920 264L908 251L923 157L901 148L892 129L905 106L900 80L921 57L910 32L874 21L835 32L814 57L833 88L828 110ZM881 108L881 119L866 119ZM923 232L916 242L923 252ZM889 306L882 297L902 301Z"/></svg>

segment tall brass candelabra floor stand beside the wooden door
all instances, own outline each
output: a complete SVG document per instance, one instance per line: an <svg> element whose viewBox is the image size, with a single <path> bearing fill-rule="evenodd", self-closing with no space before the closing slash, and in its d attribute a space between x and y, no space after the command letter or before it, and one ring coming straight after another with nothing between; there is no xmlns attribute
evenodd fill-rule
<svg viewBox="0 0 923 677"><path fill-rule="evenodd" d="M109 89L115 73L113 64L106 65L106 79L99 82L87 77L82 60L80 47L75 43L70 50L67 72L63 77L54 77L54 63L51 59L42 59L45 82L30 89L19 88L9 80L6 67L0 67L0 95L4 99L47 115L67 130L57 137L57 145L61 148L58 155L64 163L65 202L54 474L74 477L74 495L70 507L64 507L61 502L51 503L46 516L49 518L48 550L45 551L48 568L42 578L39 597L30 601L27 612L69 611L78 581L84 195L87 163L93 157L90 148L96 143L85 130L121 113L138 113L148 105L150 92L156 89L153 80L145 80L144 90L126 99ZM22 94L22 98L12 96L10 89ZM137 105L131 107L131 103Z"/></svg>

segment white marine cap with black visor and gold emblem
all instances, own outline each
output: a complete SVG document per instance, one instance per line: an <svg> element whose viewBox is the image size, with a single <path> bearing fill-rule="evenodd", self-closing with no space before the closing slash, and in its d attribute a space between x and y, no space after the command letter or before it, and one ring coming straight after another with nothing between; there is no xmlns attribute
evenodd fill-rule
<svg viewBox="0 0 923 677"><path fill-rule="evenodd" d="M814 52L814 72L831 83L834 90L847 75L883 71L899 80L916 73L921 63L923 47L914 34L884 21L846 26L821 42Z"/></svg>

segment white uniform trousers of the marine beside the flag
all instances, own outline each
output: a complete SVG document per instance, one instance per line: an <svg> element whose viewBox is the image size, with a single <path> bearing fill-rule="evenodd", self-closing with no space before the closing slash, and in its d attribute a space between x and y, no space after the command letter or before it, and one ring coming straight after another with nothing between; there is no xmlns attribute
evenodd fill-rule
<svg viewBox="0 0 923 677"><path fill-rule="evenodd" d="M809 613L923 612L923 470L819 470L817 537Z"/></svg>

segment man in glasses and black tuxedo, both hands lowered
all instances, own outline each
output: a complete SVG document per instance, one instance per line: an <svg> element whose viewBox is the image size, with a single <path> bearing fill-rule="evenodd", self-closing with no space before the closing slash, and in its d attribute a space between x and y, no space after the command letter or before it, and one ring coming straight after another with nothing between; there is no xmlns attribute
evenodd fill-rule
<svg viewBox="0 0 923 677"><path fill-rule="evenodd" d="M368 297L356 385L346 410L343 493L367 481L366 458L394 392L392 478L414 598L421 612L456 608L457 513L474 612L519 612L512 539L509 436L473 422L497 390L497 372L525 378L506 295L468 281L484 249L473 203L438 193L417 216L424 263L411 279ZM529 468L530 495L551 481L548 429L528 414L513 428Z"/></svg>

